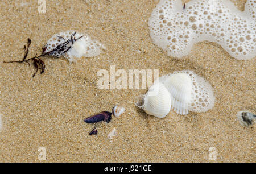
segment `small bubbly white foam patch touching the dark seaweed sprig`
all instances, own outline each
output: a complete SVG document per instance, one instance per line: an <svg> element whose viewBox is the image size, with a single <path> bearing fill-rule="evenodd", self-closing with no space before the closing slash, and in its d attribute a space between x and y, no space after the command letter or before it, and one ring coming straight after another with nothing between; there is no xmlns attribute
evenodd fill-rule
<svg viewBox="0 0 256 174"><path fill-rule="evenodd" d="M61 45L69 39L76 39L74 42L70 42L67 44L67 47L70 47L68 51L53 51L50 55L59 57L64 56L69 61L75 61L76 58L80 57L94 57L100 55L102 49L106 49L104 45L102 45L98 40L91 39L90 36L79 34L75 31L66 31L60 32L52 36L51 39L48 40L46 44L46 51L50 52L55 49L58 45Z"/></svg>

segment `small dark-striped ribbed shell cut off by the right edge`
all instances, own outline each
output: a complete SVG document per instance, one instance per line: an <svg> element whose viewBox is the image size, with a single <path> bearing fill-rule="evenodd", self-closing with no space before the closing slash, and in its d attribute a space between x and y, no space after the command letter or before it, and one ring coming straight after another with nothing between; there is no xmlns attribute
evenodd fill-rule
<svg viewBox="0 0 256 174"><path fill-rule="evenodd" d="M237 119L242 126L248 127L250 125L253 125L256 119L256 115L249 111L243 110L237 113Z"/></svg>

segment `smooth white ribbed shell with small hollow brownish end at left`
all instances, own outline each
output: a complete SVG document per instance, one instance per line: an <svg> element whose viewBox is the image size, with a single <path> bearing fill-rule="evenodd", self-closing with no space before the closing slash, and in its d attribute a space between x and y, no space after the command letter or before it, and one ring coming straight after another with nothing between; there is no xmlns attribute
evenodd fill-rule
<svg viewBox="0 0 256 174"><path fill-rule="evenodd" d="M158 118L165 117L171 109L170 93L162 83L152 85L145 95L135 98L135 106L147 114Z"/></svg>

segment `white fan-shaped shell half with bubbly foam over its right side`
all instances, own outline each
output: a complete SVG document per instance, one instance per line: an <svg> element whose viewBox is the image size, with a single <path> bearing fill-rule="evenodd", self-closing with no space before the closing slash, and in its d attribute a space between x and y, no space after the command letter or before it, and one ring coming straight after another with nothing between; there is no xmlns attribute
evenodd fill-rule
<svg viewBox="0 0 256 174"><path fill-rule="evenodd" d="M158 81L170 92L172 108L177 114L205 112L214 106L212 86L192 71L170 73L159 77Z"/></svg>

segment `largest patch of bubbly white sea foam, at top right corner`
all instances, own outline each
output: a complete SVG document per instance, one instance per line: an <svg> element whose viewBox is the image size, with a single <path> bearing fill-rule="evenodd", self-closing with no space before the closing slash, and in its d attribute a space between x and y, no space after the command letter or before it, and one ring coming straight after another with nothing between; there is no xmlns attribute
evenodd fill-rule
<svg viewBox="0 0 256 174"><path fill-rule="evenodd" d="M208 40L236 59L256 56L256 1L240 11L229 0L160 0L148 20L153 42L168 55L188 55L193 44Z"/></svg>

